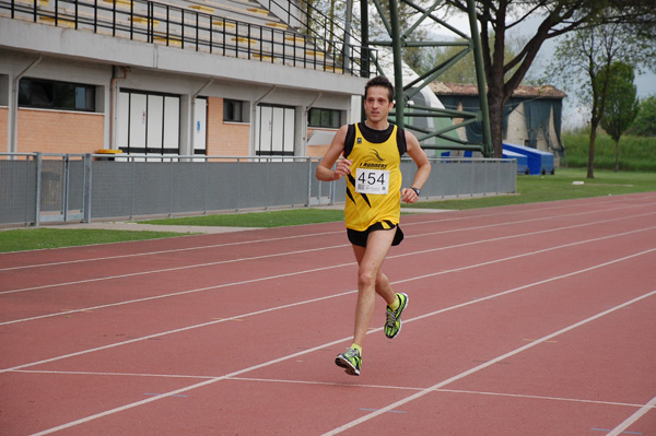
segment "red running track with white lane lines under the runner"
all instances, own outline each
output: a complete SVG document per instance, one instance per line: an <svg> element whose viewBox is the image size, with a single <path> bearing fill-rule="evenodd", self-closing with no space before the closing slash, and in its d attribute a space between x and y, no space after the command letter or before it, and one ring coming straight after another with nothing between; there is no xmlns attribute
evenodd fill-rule
<svg viewBox="0 0 656 436"><path fill-rule="evenodd" d="M656 435L656 193L0 255L0 434Z"/></svg>

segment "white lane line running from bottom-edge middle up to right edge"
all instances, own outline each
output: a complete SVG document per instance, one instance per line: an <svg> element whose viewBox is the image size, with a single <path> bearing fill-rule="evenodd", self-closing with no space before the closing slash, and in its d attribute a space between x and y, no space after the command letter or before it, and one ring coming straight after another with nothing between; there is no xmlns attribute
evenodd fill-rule
<svg viewBox="0 0 656 436"><path fill-rule="evenodd" d="M519 354L519 353L522 353L522 352L524 352L526 350L532 349L534 346L536 346L538 344L541 344L542 342L551 340L551 339L553 339L553 338L555 338L555 337L558 337L560 334L566 333L566 332L569 332L571 330L574 330L574 329L576 329L576 328L578 328L581 326L584 326L584 325L586 325L588 322L591 322L591 321L595 321L595 320L597 320L597 319L599 319L601 317L605 317L606 315L612 314L613 311L617 311L617 310L621 309L622 307L630 306L632 304L635 304L635 303L637 303L637 302L640 302L642 299L648 298L648 297L654 296L654 295L656 295L656 290L654 290L654 291L652 291L649 293L643 294L643 295L641 295L639 297L635 297L635 298L633 298L633 299L631 299L629 302L625 302L625 303L623 303L623 304L621 304L621 305L619 305L617 307L613 307L612 309L605 310L605 311L602 311L600 314L597 314L597 315L591 316L589 318L586 318L586 319L584 319L582 321L573 323L573 325L571 325L569 327L565 327L564 329L561 329L561 330L559 330L557 332L553 332L551 334L547 334L546 337L542 337L542 338L538 339L536 342L528 343L528 344L526 344L524 346L520 346L520 347L518 347L516 350L513 350L513 351L511 351L508 353L505 353L505 354L503 354L501 356L497 356L497 357L495 357L495 358L493 358L493 360L491 360L489 362L485 362L485 363L483 363L483 364L481 364L479 366L476 366L476 367L473 367L471 369L468 369L468 370L466 370L464 373L460 373L460 374L458 374L456 376L447 378L446 380L443 380L443 381L441 381L438 384L435 384L435 385L431 386L430 388L425 388L425 389L423 389L423 390L421 390L421 391L419 391L419 392L417 392L417 393L414 393L412 396L409 396L409 397L407 397L407 398L405 398L402 400L396 401L396 402L394 402L391 404L388 404L386 406L383 406L383 408L378 409L375 412L368 413L368 414L366 414L366 415L364 415L364 416L362 416L362 417L360 417L358 420L351 421L350 423L347 423L347 424L344 424L344 425L342 425L340 427L333 428L330 432L324 433L324 435L321 435L321 436L338 435L338 434L340 434L342 432L345 432L345 431L348 431L350 428L353 428L353 427L355 427L355 426L358 426L358 425L360 425L362 423L371 421L374 417L376 417L376 416L378 416L378 415L380 415L383 413L386 413L386 412L388 412L390 410L398 410L400 406L402 406L402 405L405 405L405 404L407 404L407 403L409 403L411 401L414 401L414 400L417 400L419 398L422 398L422 397L426 396L427 393L434 392L435 390L441 389L441 388L443 388L443 387L445 387L447 385L450 385L454 381L458 381L458 380L460 380L460 379L462 379L465 377L468 377L468 376L470 376L472 374L476 374L476 373L478 373L478 372L480 372L482 369L485 369L485 368L488 368L488 367L490 367L490 366L492 366L492 365L494 365L494 364L496 364L499 362L505 361L505 360L507 360L509 357L513 357L513 356L515 356L515 355L517 355L517 354ZM651 410L651 408L646 408L646 410L645 410L644 413L646 413L647 410ZM639 412L636 412L636 413L639 413ZM616 435L618 435L618 433L616 433Z"/></svg>

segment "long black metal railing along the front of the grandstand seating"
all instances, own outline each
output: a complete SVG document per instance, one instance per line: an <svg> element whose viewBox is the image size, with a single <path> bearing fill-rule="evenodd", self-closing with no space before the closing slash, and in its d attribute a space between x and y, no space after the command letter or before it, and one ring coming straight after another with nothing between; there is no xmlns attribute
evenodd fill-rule
<svg viewBox="0 0 656 436"><path fill-rule="evenodd" d="M191 9L197 7L197 9ZM221 56L282 63L333 73L365 75L358 62L362 47L290 30L215 15L213 8L147 0L1 0L12 19L91 31ZM284 27L284 28L279 28ZM366 50L370 56L375 52Z"/></svg>

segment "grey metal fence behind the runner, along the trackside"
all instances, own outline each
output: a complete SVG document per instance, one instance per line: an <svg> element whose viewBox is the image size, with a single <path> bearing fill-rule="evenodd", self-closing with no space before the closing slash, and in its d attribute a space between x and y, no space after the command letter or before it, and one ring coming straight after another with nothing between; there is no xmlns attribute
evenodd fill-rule
<svg viewBox="0 0 656 436"><path fill-rule="evenodd" d="M0 225L206 214L345 201L316 157L0 153ZM512 193L516 161L432 158L422 199ZM412 161L401 162L412 180Z"/></svg>

